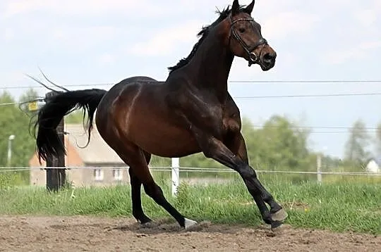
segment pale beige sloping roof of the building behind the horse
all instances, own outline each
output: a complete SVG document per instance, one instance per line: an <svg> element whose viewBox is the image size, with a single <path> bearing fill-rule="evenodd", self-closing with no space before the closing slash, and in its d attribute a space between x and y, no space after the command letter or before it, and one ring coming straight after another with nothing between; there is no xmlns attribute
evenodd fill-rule
<svg viewBox="0 0 381 252"><path fill-rule="evenodd" d="M83 163L124 164L123 160L119 158L116 152L111 149L106 141L99 135L95 124L91 132L90 142L87 146L88 133L83 127L83 124L65 124L64 131L68 132L66 137L83 160Z"/></svg>

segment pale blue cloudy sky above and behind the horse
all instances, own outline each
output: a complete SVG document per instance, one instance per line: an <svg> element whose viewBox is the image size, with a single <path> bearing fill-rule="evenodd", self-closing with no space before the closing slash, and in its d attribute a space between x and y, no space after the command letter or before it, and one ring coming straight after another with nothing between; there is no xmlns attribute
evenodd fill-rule
<svg viewBox="0 0 381 252"><path fill-rule="evenodd" d="M2 0L0 88L19 96L41 77L75 85L111 83L133 75L165 80L167 67L187 56L202 25L232 0ZM249 4L250 1L240 1ZM381 0L257 0L253 17L277 51L275 67L262 72L236 58L229 80L381 80ZM109 83L109 84L107 84ZM378 83L229 84L233 96L381 92ZM45 89L38 89L44 94ZM381 96L237 99L256 125L274 113L304 126L367 127L381 121ZM332 133L332 131L338 131ZM342 156L345 129L315 128L310 147ZM372 131L372 130L370 130ZM329 132L329 133L324 133Z"/></svg>

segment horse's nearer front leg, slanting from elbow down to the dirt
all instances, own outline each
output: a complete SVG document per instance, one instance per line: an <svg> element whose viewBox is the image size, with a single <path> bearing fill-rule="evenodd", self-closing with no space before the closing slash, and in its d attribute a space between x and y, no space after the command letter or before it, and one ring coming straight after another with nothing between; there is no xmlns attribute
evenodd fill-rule
<svg viewBox="0 0 381 252"><path fill-rule="evenodd" d="M246 161L238 158L238 156L236 156L236 154L234 154L221 140L195 128L193 128L193 132L195 133L195 138L198 140L198 144L200 144L202 152L207 158L212 158L217 162L236 170L238 174L241 175L248 191L251 196L253 196L253 199L260 210L262 220L264 220L265 223L270 224L272 228L282 225L282 221L272 219L270 211L262 198L267 191L265 191L258 181L255 170L253 170Z"/></svg>

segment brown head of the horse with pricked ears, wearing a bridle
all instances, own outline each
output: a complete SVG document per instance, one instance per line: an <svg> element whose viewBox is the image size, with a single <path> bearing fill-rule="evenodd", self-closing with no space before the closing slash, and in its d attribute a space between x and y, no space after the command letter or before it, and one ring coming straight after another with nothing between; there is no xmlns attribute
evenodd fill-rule
<svg viewBox="0 0 381 252"><path fill-rule="evenodd" d="M231 13L226 18L229 23L227 43L231 52L245 58L249 66L258 64L267 71L274 67L277 53L262 37L260 24L251 17L254 7L253 0L246 8L241 8L238 0L234 0Z"/></svg>

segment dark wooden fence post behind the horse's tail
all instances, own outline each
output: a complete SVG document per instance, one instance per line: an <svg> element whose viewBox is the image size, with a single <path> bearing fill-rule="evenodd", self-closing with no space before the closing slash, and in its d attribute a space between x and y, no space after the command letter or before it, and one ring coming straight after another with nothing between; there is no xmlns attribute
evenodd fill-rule
<svg viewBox="0 0 381 252"><path fill-rule="evenodd" d="M57 92L49 92L45 95L45 99L48 102L57 94ZM59 139L65 144L65 139L63 135L63 118L56 128ZM62 169L57 169L57 167L63 167ZM66 181L66 169L65 167L65 155L61 155L58 158L48 158L47 159L47 190L48 191L58 191Z"/></svg>

